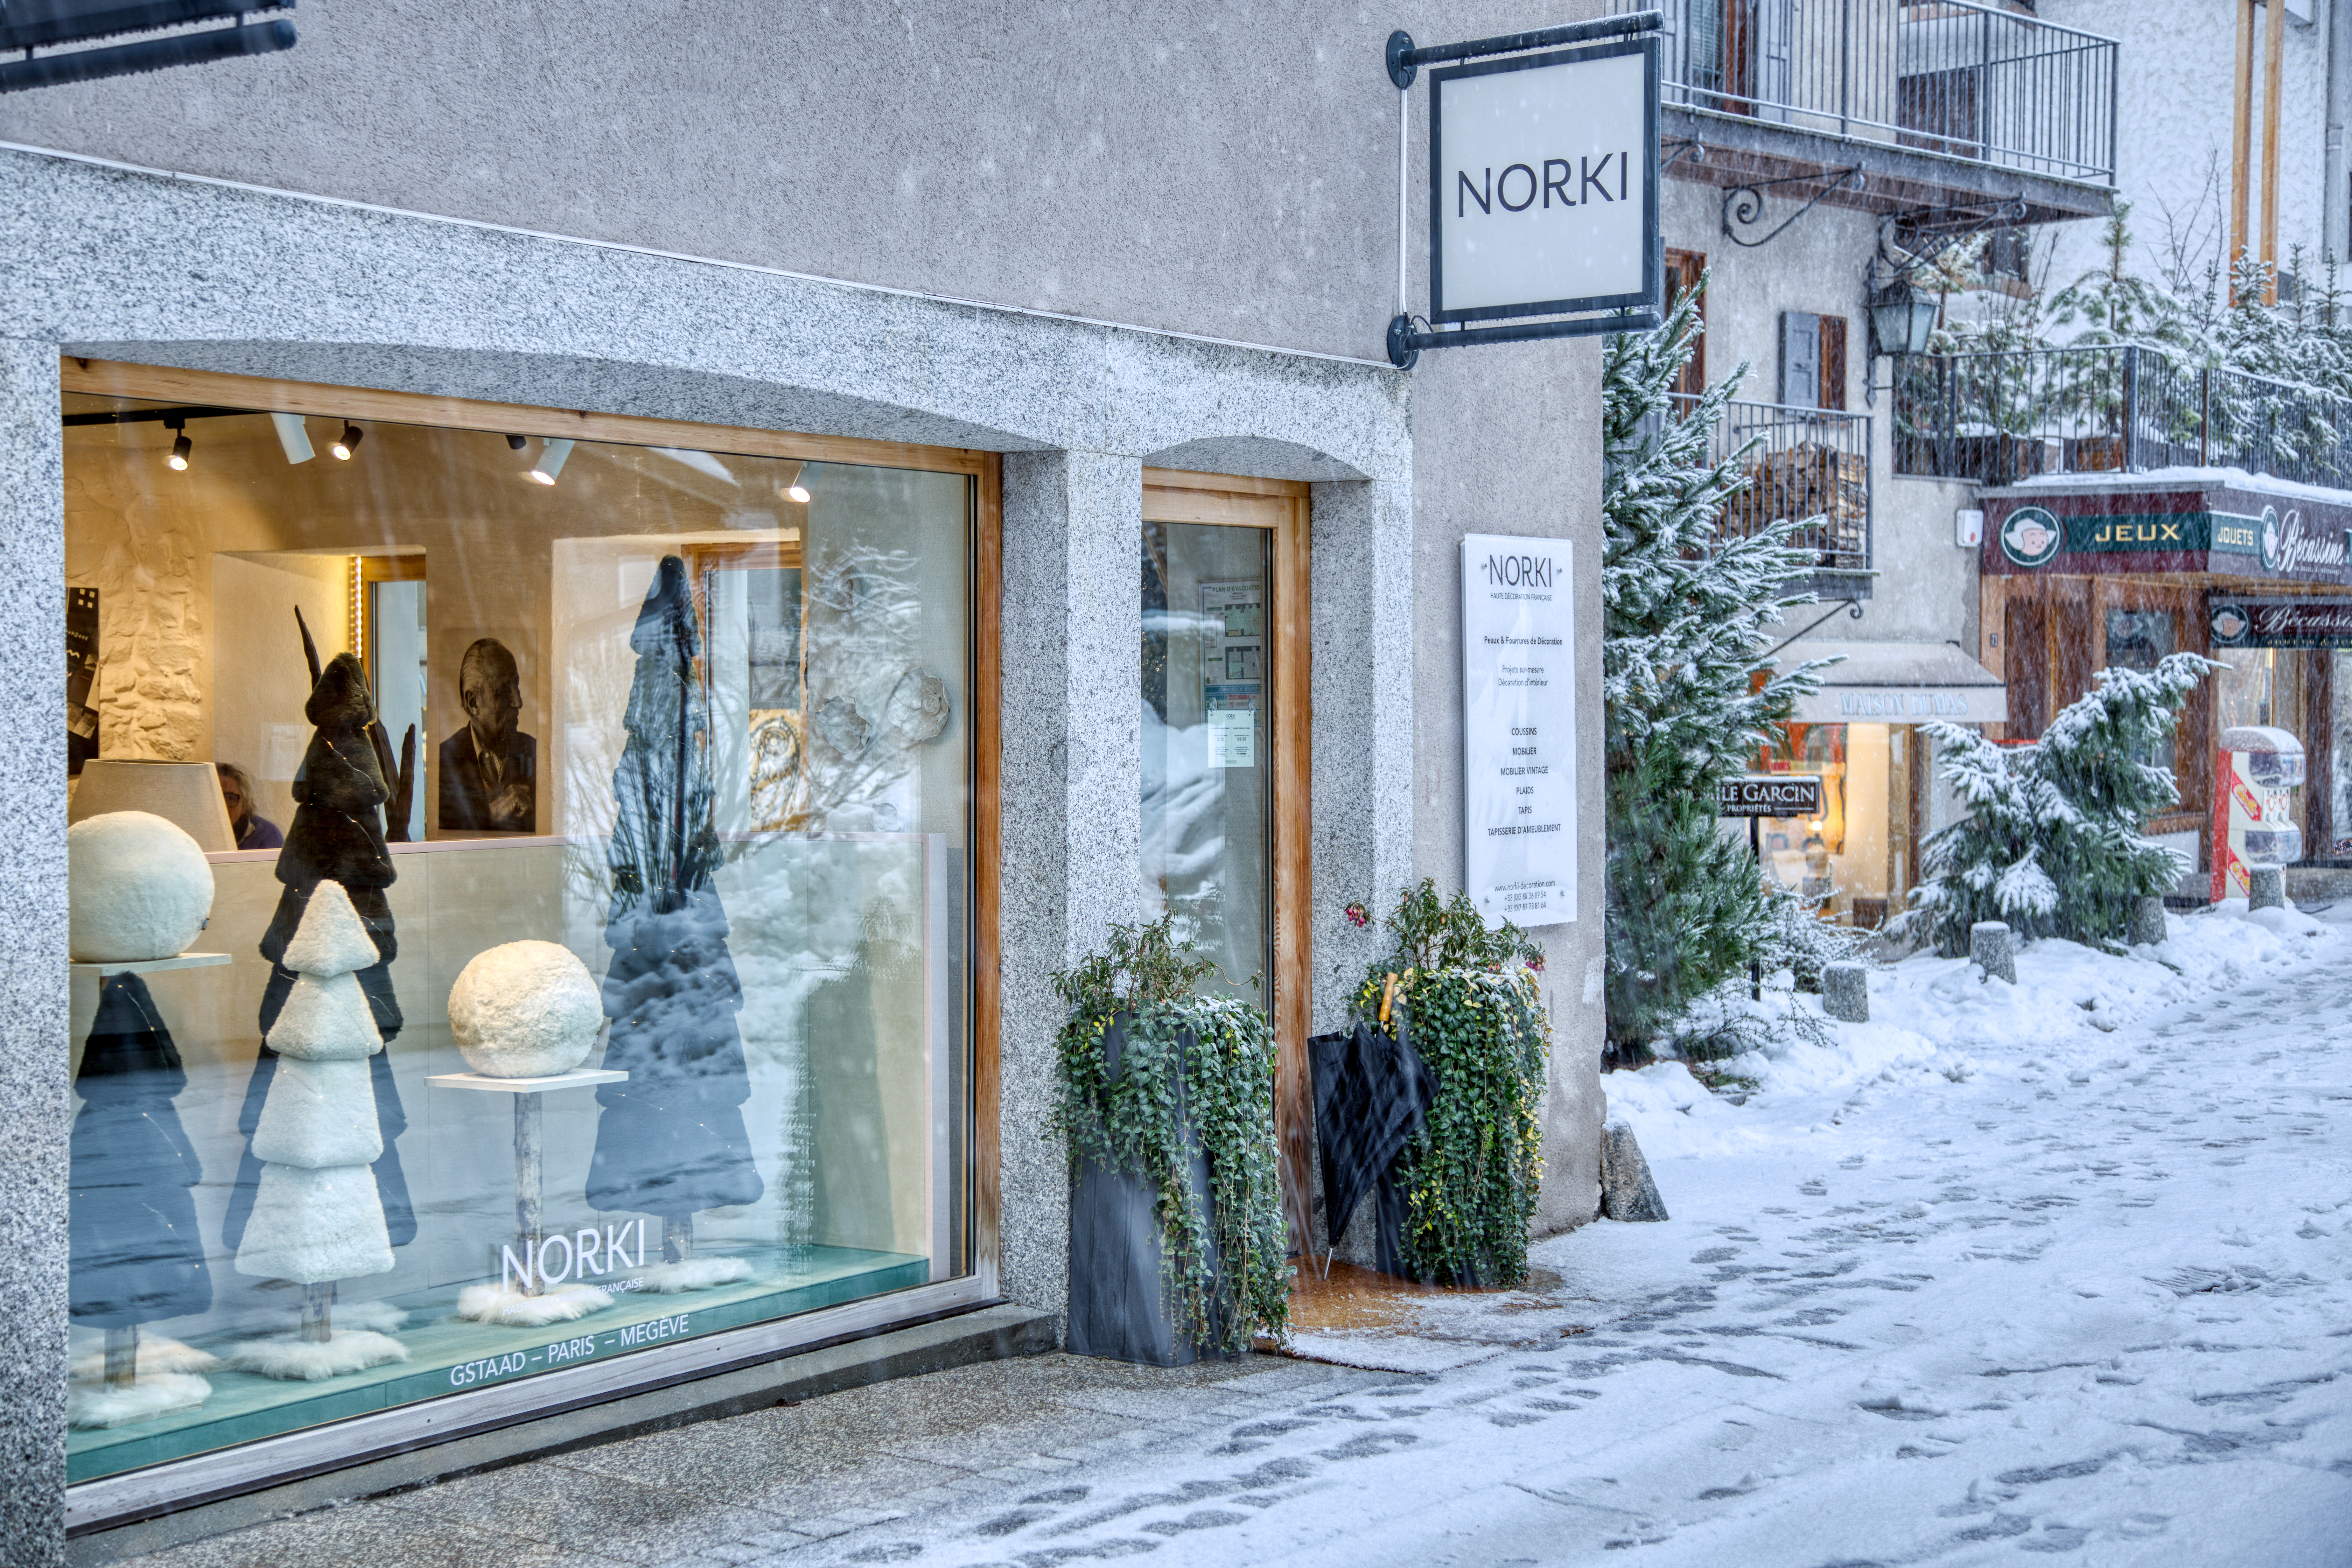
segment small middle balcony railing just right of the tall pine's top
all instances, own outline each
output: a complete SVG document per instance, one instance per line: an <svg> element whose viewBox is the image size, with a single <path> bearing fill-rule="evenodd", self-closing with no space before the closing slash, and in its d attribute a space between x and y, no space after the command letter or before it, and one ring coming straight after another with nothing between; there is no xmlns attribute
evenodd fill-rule
<svg viewBox="0 0 2352 1568"><path fill-rule="evenodd" d="M1696 402L1675 397L1677 411L1689 411ZM1726 534L1750 538L1790 520L1797 527L1788 543L1813 557L1816 585L1828 585L1839 574L1870 571L1867 414L1731 402L1724 407L1724 423L1715 428L1710 456L1717 463L1738 456L1748 475L1748 489L1724 503ZM1842 585L1851 588L1858 585Z"/></svg>

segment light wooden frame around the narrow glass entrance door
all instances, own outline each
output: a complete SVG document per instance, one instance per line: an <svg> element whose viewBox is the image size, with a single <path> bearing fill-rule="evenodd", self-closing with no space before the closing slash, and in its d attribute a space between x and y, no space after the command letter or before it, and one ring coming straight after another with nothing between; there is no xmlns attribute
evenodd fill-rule
<svg viewBox="0 0 2352 1568"><path fill-rule="evenodd" d="M1275 1135L1282 1140L1282 1197L1291 1218L1291 1244L1312 1234L1308 1201L1308 959L1312 957L1312 823L1310 823L1310 696L1308 639L1308 484L1303 480L1249 480L1242 475L1143 470L1143 522L1207 522L1272 534L1272 609L1268 654L1272 656L1275 844L1272 926L1275 973L1268 976L1275 1023Z"/></svg>

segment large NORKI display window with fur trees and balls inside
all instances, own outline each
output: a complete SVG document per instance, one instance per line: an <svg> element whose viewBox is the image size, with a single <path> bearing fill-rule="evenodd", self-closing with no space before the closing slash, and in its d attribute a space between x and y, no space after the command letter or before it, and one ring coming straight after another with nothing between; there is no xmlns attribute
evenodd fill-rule
<svg viewBox="0 0 2352 1568"><path fill-rule="evenodd" d="M64 400L73 788L285 844L75 966L71 1476L969 1274L978 458L172 388Z"/></svg>

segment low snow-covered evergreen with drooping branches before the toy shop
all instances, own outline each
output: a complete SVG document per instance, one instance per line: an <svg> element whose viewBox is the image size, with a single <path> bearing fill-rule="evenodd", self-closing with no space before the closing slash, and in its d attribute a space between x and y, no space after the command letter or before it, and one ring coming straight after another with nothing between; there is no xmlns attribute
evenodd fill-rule
<svg viewBox="0 0 2352 1568"><path fill-rule="evenodd" d="M1938 771L1971 816L1929 835L1926 882L1891 929L1969 950L1969 926L2006 922L2020 938L2114 945L2140 898L2180 879L2173 851L2140 835L2180 804L2166 766L2147 762L2180 724L2180 703L2209 670L2173 654L2154 670L2100 670L2032 745L2002 748L1973 729L1929 724Z"/></svg>

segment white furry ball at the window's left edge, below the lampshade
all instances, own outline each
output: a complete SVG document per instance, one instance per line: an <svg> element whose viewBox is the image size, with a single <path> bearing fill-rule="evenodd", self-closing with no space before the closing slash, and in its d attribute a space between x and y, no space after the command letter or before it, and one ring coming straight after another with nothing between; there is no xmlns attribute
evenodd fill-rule
<svg viewBox="0 0 2352 1568"><path fill-rule="evenodd" d="M66 830L75 964L174 959L212 914L212 865L195 839L148 811L108 811Z"/></svg>

